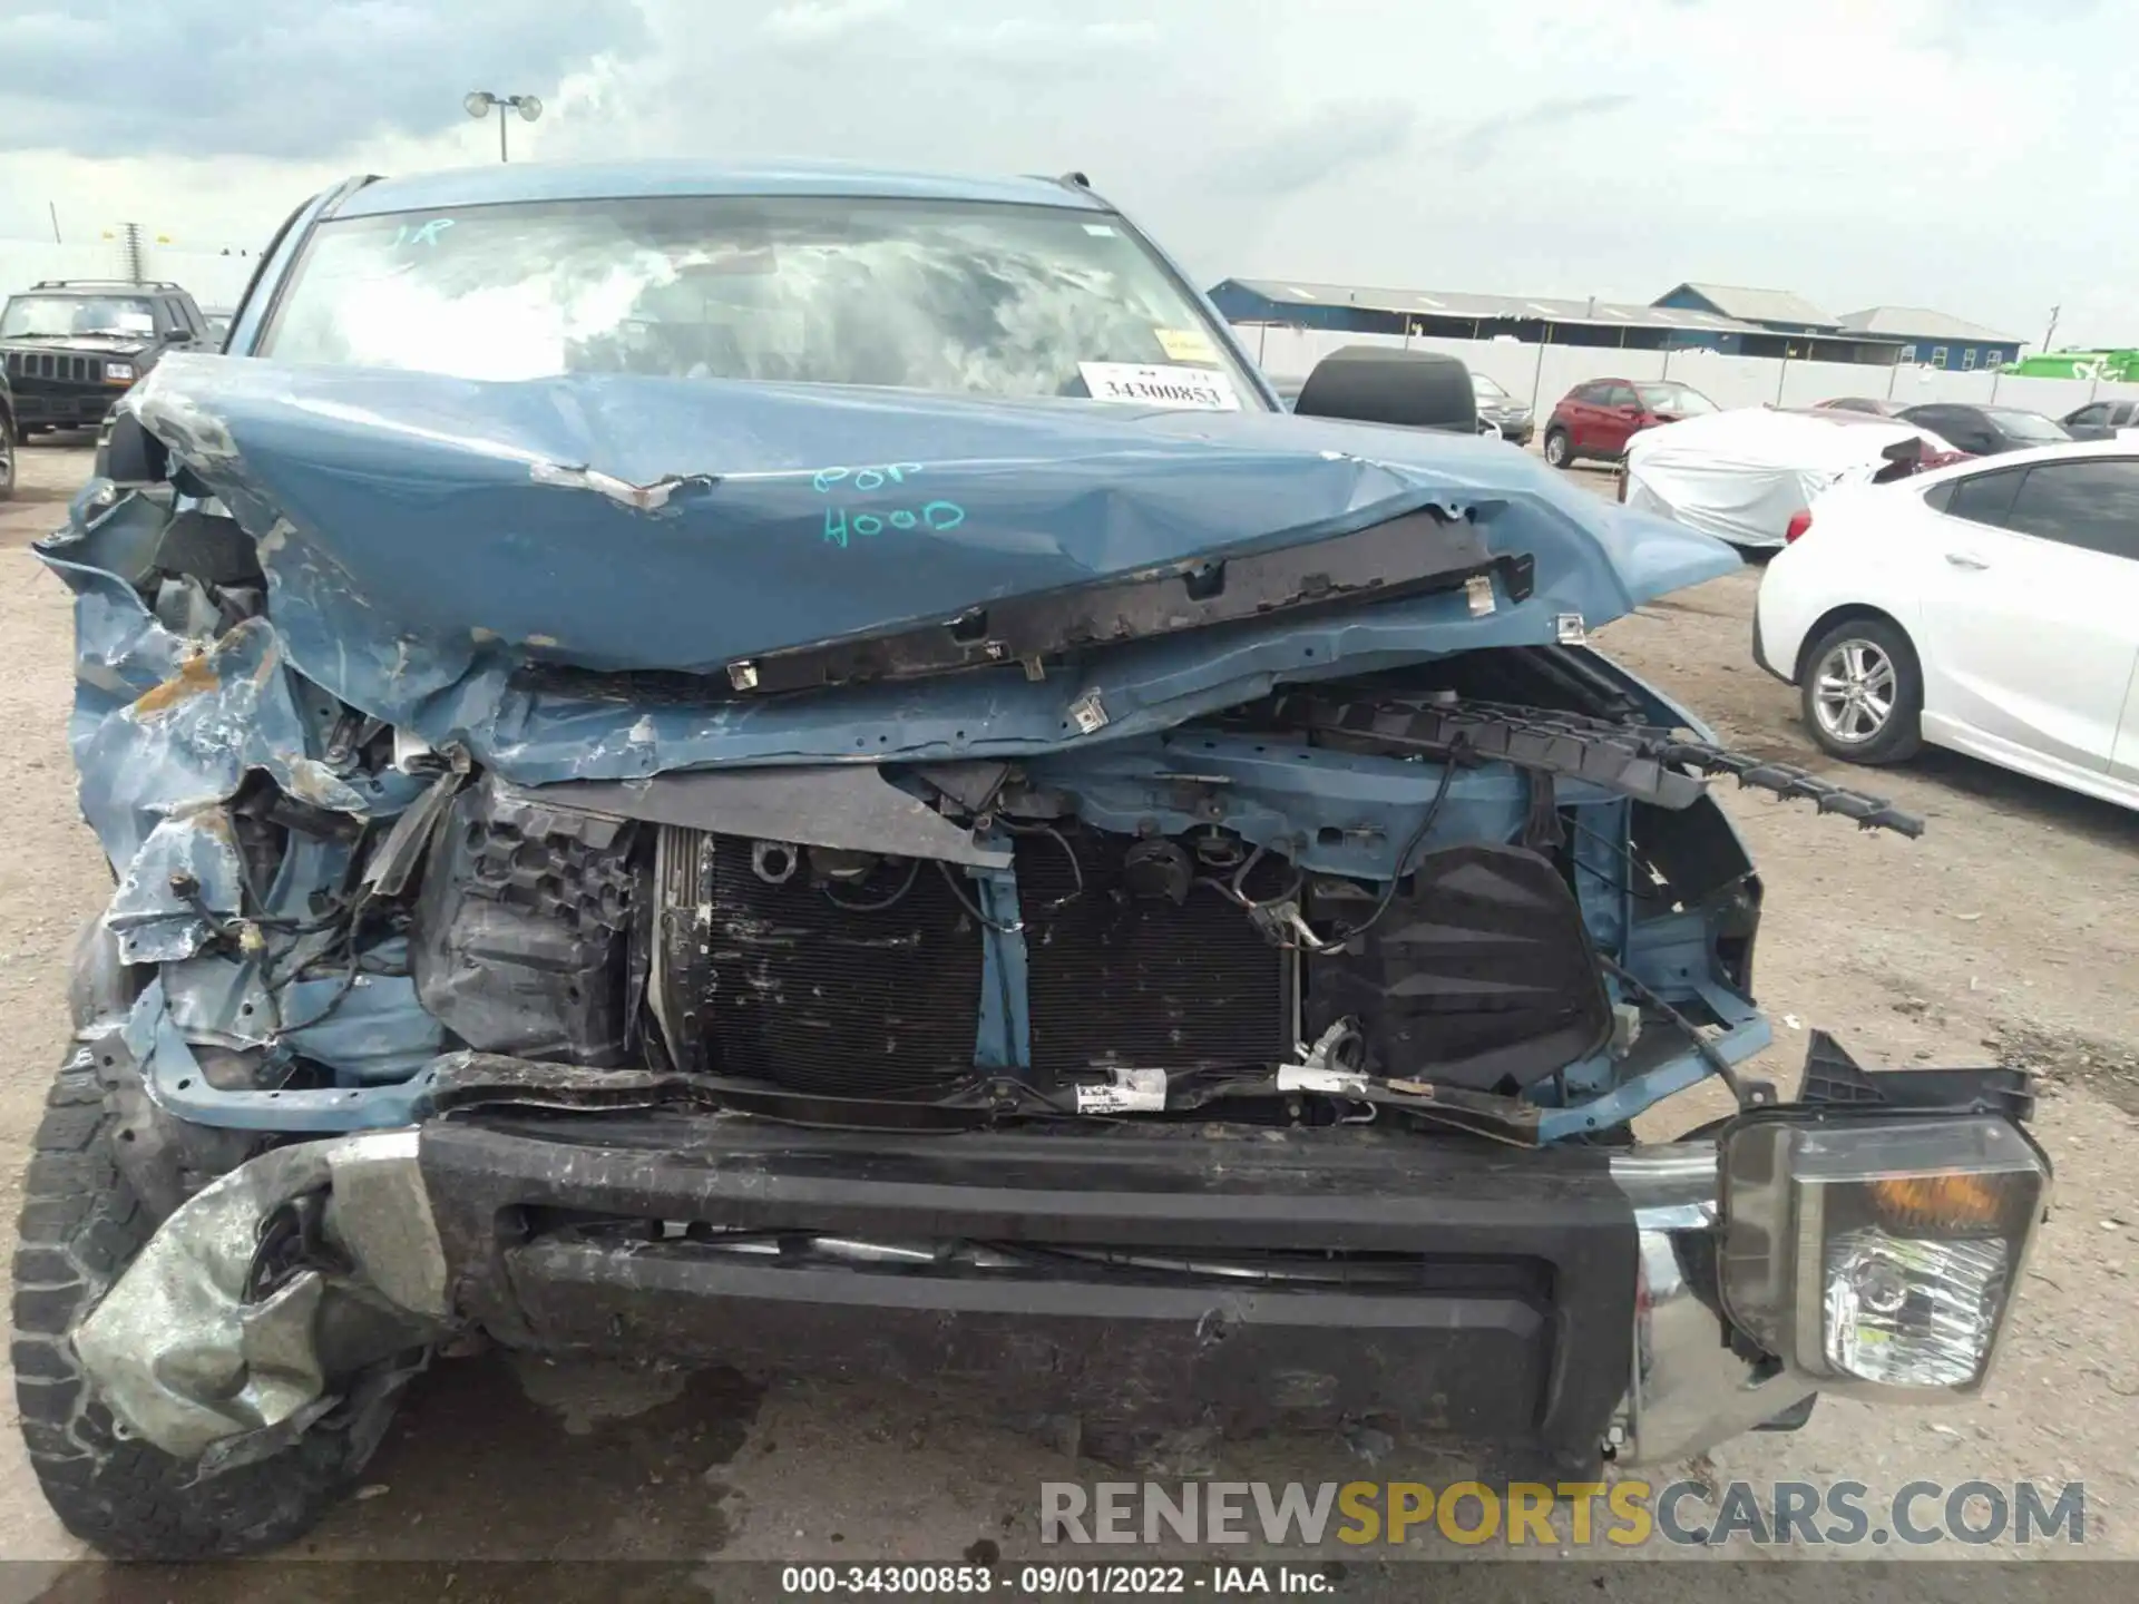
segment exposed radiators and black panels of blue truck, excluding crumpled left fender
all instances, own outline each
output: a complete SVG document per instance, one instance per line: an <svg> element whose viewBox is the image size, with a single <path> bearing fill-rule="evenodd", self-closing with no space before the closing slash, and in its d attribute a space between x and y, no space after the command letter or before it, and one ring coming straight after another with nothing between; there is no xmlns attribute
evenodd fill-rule
<svg viewBox="0 0 2139 1604"><path fill-rule="evenodd" d="M1720 815L1707 851L1651 851L1713 808L1683 774L1600 783L1587 749L1553 772L1489 755L1484 727L1390 723L1645 712L1587 652L1476 659L1025 764L451 776L406 930L417 997L453 1046L809 1119L1313 1123L1358 1116L1365 1086L1536 1140L1540 1106L1624 1078L1645 1009L1666 1039L1743 1024L1758 883ZM1613 973L1666 937L1675 971Z"/></svg>

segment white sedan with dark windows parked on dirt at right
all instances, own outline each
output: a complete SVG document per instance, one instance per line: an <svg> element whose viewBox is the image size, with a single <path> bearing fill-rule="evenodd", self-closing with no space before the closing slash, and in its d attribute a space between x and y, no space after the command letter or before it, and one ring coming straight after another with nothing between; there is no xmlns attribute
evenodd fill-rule
<svg viewBox="0 0 2139 1604"><path fill-rule="evenodd" d="M1760 577L1752 654L1835 757L1934 742L2139 808L2139 443L1829 490Z"/></svg>

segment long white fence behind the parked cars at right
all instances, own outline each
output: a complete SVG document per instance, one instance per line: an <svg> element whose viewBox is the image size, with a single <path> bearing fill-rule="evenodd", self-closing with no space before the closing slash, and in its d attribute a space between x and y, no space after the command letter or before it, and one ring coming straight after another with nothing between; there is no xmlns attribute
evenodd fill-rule
<svg viewBox="0 0 2139 1604"><path fill-rule="evenodd" d="M2094 379L2015 379L2000 372L1949 368L1872 368L1855 361L1784 361L1728 357L1720 351L1628 351L1619 346L1523 344L1521 340L1433 340L1395 334L1333 334L1275 323L1234 329L1273 379L1305 379L1330 351L1348 344L1410 344L1446 351L1472 372L1527 400L1540 417L1574 385L1589 379L1683 379L1718 406L1810 406L1837 396L1876 396L1904 406L1919 402L1974 402L2026 406L2064 417L2090 400L2139 400L2139 385Z"/></svg>

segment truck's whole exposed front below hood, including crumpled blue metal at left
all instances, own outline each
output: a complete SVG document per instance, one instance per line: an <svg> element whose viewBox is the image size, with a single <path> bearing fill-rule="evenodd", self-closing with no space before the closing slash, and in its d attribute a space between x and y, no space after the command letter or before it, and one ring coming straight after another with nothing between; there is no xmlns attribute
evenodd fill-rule
<svg viewBox="0 0 2139 1604"><path fill-rule="evenodd" d="M203 1127L684 1099L1587 1140L1709 1074L1745 1101L1769 1039L1760 885L1709 776L1921 828L1705 742L1585 646L1031 757L524 785L280 669L263 622L128 723L169 699L193 742L225 687L287 687L257 716L304 757L113 828L143 832L105 920L113 1074Z"/></svg>

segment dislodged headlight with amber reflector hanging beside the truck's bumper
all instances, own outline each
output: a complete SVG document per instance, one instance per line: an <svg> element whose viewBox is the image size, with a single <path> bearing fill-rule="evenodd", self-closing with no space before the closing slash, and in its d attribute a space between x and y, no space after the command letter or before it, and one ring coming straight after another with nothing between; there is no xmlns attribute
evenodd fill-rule
<svg viewBox="0 0 2139 1604"><path fill-rule="evenodd" d="M1803 1123L1724 1138L1722 1300L1837 1388L1983 1386L2049 1163L1998 1116Z"/></svg>

